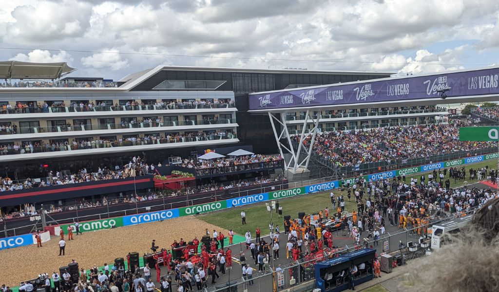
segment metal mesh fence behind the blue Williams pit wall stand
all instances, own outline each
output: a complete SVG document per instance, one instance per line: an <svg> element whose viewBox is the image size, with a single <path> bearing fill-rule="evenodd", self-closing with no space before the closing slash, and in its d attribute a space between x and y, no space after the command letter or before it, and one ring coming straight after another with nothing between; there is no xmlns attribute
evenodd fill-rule
<svg viewBox="0 0 499 292"><path fill-rule="evenodd" d="M388 254L400 254L404 258L404 262L416 257L425 256L425 253L409 252L407 248L400 249L400 241L404 243L404 246L410 241L417 242L420 236L426 237L426 235L429 235L418 234L418 229L431 230L431 227L434 224L441 224L459 216L474 214L476 210L478 210L478 208L471 209L465 213L447 214L445 218L434 219L427 225L422 225L417 228L401 229L392 233L385 233L380 236L377 246L375 245L375 241L372 239L368 242L368 245L369 247L373 246L374 248L377 248L378 255L380 255L382 250ZM341 232L342 231L337 231L338 234ZM268 292L272 291L274 287L273 285L275 285L277 291L287 291L288 289L289 291L311 291L315 286L314 263L325 261L332 257L343 255L364 247L365 245L357 245L353 243L352 239L351 244L347 244L329 252L323 252L322 254L316 255L316 257L311 260L302 258L295 262L273 267L273 269L272 267L269 267L268 264L265 264L265 271L253 272L254 274L251 279L240 277L231 280L230 282L206 288L204 289L204 292L238 292L246 290L248 292ZM239 269L238 266L236 267ZM275 273L272 273L272 270L274 270ZM291 282L292 278L295 282ZM250 286L251 283L252 285Z"/></svg>

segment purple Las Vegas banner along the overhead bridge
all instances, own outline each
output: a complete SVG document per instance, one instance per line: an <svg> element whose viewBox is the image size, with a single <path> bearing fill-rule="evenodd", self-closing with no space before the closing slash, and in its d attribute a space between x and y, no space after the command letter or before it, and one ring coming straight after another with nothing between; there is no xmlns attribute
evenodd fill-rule
<svg viewBox="0 0 499 292"><path fill-rule="evenodd" d="M499 68L250 94L250 110L498 94Z"/></svg>

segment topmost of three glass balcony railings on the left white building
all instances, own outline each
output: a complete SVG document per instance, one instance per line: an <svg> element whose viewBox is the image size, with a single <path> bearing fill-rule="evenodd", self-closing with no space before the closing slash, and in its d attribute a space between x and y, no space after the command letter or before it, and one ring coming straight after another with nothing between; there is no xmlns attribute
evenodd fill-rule
<svg viewBox="0 0 499 292"><path fill-rule="evenodd" d="M69 107L0 107L0 114L42 114L42 113L84 113L84 112L118 112L118 111L159 111L159 110L195 110L195 109L227 109L236 108L234 103L172 103L165 105L114 105L114 106L69 106Z"/></svg>

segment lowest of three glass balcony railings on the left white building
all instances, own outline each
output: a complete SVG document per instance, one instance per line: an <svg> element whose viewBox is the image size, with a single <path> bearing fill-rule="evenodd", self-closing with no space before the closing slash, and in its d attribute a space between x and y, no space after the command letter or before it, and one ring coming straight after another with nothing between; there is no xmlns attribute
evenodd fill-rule
<svg viewBox="0 0 499 292"><path fill-rule="evenodd" d="M12 154L29 154L29 153L42 153L42 152L55 152L55 151L70 151L81 149L98 149L110 147L125 147L125 146L145 146L145 145L160 145L171 143L186 143L186 142L199 142L199 141L215 141L215 140L228 140L236 139L237 134L232 132L216 133L211 135L199 136L184 136L174 135L165 138L151 137L148 139L134 139L125 141L110 141L110 140L92 140L80 141L74 143L64 144L43 144L42 146L33 145L4 145L0 146L0 155Z"/></svg>

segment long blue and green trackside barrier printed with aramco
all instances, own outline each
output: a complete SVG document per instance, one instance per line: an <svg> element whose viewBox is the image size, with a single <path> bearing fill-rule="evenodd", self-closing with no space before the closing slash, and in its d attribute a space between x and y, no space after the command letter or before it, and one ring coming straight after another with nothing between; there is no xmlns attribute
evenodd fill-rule
<svg viewBox="0 0 499 292"><path fill-rule="evenodd" d="M364 175L361 177L364 177L366 180L369 181L371 179L376 180L376 179L392 178L392 177L396 177L396 176L402 176L404 174L405 175L413 175L415 173L428 172L428 171L432 171L434 169L443 169L446 167L456 167L456 166L466 165L466 164L470 164L470 163L477 163L477 162L481 162L481 161L497 159L498 157L499 157L499 153L478 155L478 156L472 156L472 157L450 160L450 161L435 162L435 163L425 164L425 165L421 165L421 166L417 166L417 167L409 167L409 168L403 168L403 169L398 169L398 170L391 170L391 171L385 171L385 172L380 172L380 173L374 173L374 174ZM275 199L281 199L281 198L287 198L287 197L292 197L292 196L297 196L297 195L308 194L308 193L315 193L315 192L331 190L331 189L340 187L346 183L353 184L354 181L355 181L355 178L349 178L349 179L345 179L345 180L333 180L333 181L327 181L327 182L318 183L318 184L312 184L312 185L308 185L308 186L295 187L295 188L290 188L290 189L285 189L285 190L270 191L270 192L266 192L266 193L231 198L231 199L210 202L210 203L205 203L205 204L200 204L200 205L194 205L194 206L189 206L189 207L168 209L168 210L135 214L135 215L128 215L128 216L123 216L123 217L115 217L115 218L102 219L102 220L80 222L80 230L79 231L80 232L89 232L89 231L109 229L109 228L114 228L114 227L124 227L124 226L131 226L131 225L142 224L142 223L162 221L162 220L166 220L166 219L178 218L178 217L183 217L183 216L196 215L196 214L218 211L218 210L223 210L223 209L228 209L228 208L233 208L233 207L238 207L238 206L244 206L244 205L248 205L248 204L254 204L254 203L263 202L263 201L269 201L269 200L275 200ZM63 224L63 225L60 225L60 228L62 228L64 233L67 234L67 227L68 226L71 226L71 228L73 229L73 232L76 232L76 227L74 226L74 224ZM16 247L30 245L30 244L36 244L36 241L34 241L33 238L34 237L31 234L2 238L2 239L0 239L0 250L7 249L7 248L16 248Z"/></svg>

